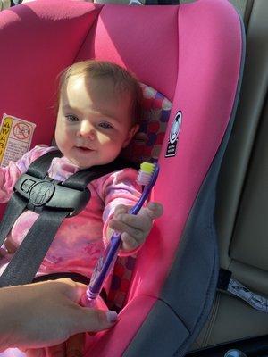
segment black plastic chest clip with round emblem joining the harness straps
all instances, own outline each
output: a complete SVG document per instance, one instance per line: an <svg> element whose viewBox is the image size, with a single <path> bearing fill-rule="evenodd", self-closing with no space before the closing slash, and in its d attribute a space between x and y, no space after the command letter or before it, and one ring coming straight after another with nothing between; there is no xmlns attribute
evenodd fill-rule
<svg viewBox="0 0 268 357"><path fill-rule="evenodd" d="M41 212L45 208L69 212L67 217L81 212L88 203L90 191L64 187L61 181L38 179L27 173L21 175L14 186L14 193L28 201L27 208Z"/></svg>

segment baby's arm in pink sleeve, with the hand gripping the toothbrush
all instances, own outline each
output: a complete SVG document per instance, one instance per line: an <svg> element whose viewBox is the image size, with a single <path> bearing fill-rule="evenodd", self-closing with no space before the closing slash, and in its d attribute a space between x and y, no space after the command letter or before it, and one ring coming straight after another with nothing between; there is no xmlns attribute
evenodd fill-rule
<svg viewBox="0 0 268 357"><path fill-rule="evenodd" d="M136 183L138 172L125 169L113 173L105 180L104 236L113 231L121 233L122 253L130 253L142 245L150 232L153 220L163 214L160 203L148 203L137 215L129 214L130 206L137 203L141 187Z"/></svg>

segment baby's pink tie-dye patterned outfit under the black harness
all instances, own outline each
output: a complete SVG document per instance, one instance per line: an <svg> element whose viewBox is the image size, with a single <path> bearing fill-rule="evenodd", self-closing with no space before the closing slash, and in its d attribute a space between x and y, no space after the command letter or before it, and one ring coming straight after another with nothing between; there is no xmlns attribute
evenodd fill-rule
<svg viewBox="0 0 268 357"><path fill-rule="evenodd" d="M10 162L9 166L0 168L0 203L9 201L15 182L28 170L29 164L54 149L36 146L18 162ZM78 170L79 168L66 157L54 158L48 175L52 179L64 181ZM71 271L89 278L107 244L105 229L113 216L114 208L121 203L133 205L138 201L140 187L136 183L136 178L136 170L124 169L92 181L88 185L91 192L90 201L78 215L63 220L38 270L38 275ZM21 245L21 241L37 218L38 213L26 211L16 220L7 237L14 247ZM8 253L5 245L0 249L1 275L11 261L13 253Z"/></svg>

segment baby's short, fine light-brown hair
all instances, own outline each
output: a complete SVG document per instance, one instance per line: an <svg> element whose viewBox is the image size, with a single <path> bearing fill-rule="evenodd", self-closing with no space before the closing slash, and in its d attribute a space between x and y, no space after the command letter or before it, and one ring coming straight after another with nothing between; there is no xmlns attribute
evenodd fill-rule
<svg viewBox="0 0 268 357"><path fill-rule="evenodd" d="M130 94L130 116L133 124L140 122L143 112L143 94L138 79L133 73L113 62L96 60L77 62L61 74L59 95L68 79L80 75L90 79L112 79L114 88L119 94Z"/></svg>

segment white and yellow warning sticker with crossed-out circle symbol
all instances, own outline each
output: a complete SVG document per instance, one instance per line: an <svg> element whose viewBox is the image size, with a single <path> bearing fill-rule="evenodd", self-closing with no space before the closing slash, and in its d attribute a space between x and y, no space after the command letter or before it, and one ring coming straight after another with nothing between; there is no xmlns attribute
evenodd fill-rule
<svg viewBox="0 0 268 357"><path fill-rule="evenodd" d="M0 165L21 159L29 151L36 124L4 114L0 129Z"/></svg>

